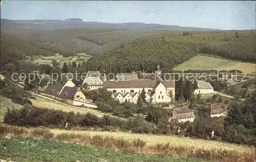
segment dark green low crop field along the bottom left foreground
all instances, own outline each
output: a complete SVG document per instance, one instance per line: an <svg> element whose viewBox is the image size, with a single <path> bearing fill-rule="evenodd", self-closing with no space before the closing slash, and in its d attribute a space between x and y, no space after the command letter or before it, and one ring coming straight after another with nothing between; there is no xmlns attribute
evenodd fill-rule
<svg viewBox="0 0 256 162"><path fill-rule="evenodd" d="M40 140L31 137L0 136L1 158L7 161L97 161L97 162L196 162L203 161L188 157L170 157L162 155L138 154L77 145L74 143Z"/></svg>

